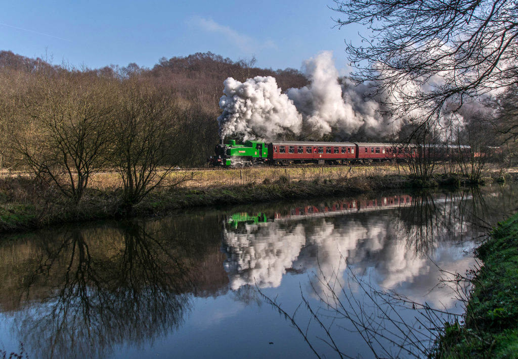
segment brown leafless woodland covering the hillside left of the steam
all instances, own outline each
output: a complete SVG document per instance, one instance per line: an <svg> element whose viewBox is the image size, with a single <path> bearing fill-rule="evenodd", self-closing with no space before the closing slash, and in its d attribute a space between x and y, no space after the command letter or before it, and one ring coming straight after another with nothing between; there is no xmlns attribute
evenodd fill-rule
<svg viewBox="0 0 518 359"><path fill-rule="evenodd" d="M227 77L274 76L283 90L308 83L298 70L254 63L208 52L162 58L153 68L89 69L1 51L0 169L61 166L73 153L96 157L88 166L116 167L130 151L121 147L149 141L159 164L200 166L218 142Z"/></svg>

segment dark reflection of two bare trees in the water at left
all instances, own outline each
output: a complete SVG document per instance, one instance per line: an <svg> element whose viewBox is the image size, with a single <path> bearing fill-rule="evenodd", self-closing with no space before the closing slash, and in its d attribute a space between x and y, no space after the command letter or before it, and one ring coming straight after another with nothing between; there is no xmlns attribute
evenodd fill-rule
<svg viewBox="0 0 518 359"><path fill-rule="evenodd" d="M172 243L124 223L109 243L119 250L103 252L89 234L73 229L48 246L25 287L27 297L37 282L53 288L19 313L21 340L37 357L103 357L116 343L138 345L182 321L188 272Z"/></svg>

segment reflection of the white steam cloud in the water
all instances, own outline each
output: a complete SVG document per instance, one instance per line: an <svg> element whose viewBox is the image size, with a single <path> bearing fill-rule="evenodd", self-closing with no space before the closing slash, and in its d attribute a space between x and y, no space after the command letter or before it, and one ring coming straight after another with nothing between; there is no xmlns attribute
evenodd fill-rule
<svg viewBox="0 0 518 359"><path fill-rule="evenodd" d="M410 206L400 207L400 220L394 220L396 213L386 216L380 207L376 210L309 217L296 225L293 219L281 219L248 225L245 233L225 231L226 268L232 288L255 282L262 288L277 287L286 268L293 267L314 272L311 285L325 295L323 283L342 280L346 265L352 265L355 272L372 268L379 287L401 289L416 302L423 302L421 293L433 288L441 276L428 255L450 272L464 272L472 264L471 256L463 250L473 248L474 243L464 238L469 226L455 219L459 210L456 198L417 196ZM281 227L290 223L291 230ZM452 232L457 234L453 236L455 243ZM447 306L454 302L447 287L435 289L426 300Z"/></svg>

